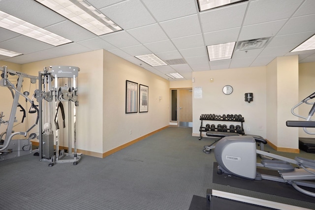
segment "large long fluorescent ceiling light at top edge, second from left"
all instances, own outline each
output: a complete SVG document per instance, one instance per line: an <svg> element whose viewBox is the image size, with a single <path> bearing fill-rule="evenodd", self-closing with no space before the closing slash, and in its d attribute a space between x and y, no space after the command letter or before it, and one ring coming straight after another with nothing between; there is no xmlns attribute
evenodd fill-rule
<svg viewBox="0 0 315 210"><path fill-rule="evenodd" d="M36 0L96 35L122 30L86 0Z"/></svg>

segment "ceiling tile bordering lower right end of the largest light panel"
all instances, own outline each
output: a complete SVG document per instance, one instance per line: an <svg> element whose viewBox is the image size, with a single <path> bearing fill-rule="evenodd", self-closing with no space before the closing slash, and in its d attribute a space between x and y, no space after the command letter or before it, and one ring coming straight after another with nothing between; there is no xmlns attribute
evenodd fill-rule
<svg viewBox="0 0 315 210"><path fill-rule="evenodd" d="M117 31L99 37L118 48L140 44L140 42L138 42L126 31Z"/></svg>

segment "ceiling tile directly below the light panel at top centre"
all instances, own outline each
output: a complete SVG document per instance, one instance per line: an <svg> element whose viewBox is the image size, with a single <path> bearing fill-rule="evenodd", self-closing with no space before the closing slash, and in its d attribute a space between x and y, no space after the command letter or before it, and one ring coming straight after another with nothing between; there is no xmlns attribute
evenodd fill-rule
<svg viewBox="0 0 315 210"><path fill-rule="evenodd" d="M200 13L203 32L236 28L242 25L247 2L207 10Z"/></svg>

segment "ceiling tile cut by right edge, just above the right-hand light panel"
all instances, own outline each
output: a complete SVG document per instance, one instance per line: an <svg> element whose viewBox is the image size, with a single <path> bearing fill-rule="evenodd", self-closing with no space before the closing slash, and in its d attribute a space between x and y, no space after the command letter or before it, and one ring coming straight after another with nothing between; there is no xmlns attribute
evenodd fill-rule
<svg viewBox="0 0 315 210"><path fill-rule="evenodd" d="M279 31L278 35L315 30L314 20L315 14L291 18Z"/></svg>

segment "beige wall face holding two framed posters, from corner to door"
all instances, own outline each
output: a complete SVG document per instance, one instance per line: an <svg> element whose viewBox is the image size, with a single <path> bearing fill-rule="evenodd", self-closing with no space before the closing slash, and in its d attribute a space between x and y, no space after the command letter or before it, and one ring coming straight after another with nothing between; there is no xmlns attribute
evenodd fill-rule
<svg viewBox="0 0 315 210"><path fill-rule="evenodd" d="M103 77L104 152L168 125L169 81L107 51ZM148 112L125 114L126 80L149 87Z"/></svg>

